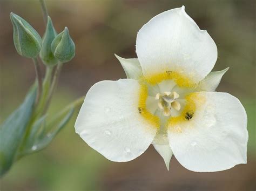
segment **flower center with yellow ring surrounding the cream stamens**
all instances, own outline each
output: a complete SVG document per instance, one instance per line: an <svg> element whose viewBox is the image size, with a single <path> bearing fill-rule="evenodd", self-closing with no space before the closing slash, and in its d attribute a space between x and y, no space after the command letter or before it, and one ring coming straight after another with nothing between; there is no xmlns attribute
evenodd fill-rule
<svg viewBox="0 0 256 191"><path fill-rule="evenodd" d="M189 106L187 95L196 90L196 85L182 72L165 71L153 76L142 76L138 112L144 119L166 134L166 128L176 121L193 117L194 107ZM178 92L178 93L177 93Z"/></svg>

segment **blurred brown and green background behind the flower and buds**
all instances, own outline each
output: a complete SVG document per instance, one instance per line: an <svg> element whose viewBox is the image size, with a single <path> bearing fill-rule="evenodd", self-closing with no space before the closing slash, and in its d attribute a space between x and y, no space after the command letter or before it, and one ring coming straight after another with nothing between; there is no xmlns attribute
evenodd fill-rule
<svg viewBox="0 0 256 191"><path fill-rule="evenodd" d="M1 190L255 190L255 2L46 0L56 30L68 26L76 43L76 57L63 67L52 113L85 95L97 81L125 78L114 53L137 57L134 45L142 25L160 12L185 5L217 44L214 70L230 66L217 91L235 95L245 106L247 165L194 173L173 156L168 172L152 146L133 161L111 162L75 134L75 116L44 151L16 162L1 180ZM35 79L32 61L19 56L12 42L10 12L26 19L41 36L44 33L37 0L0 0L1 122L22 102Z"/></svg>

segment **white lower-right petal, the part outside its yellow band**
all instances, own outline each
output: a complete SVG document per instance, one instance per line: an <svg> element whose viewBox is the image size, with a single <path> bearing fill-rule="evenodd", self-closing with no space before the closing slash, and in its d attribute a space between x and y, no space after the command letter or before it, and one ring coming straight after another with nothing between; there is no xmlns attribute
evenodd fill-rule
<svg viewBox="0 0 256 191"><path fill-rule="evenodd" d="M196 172L215 172L246 163L247 116L240 101L228 93L197 95L193 117L169 127L174 156ZM173 131L178 126L181 131Z"/></svg>

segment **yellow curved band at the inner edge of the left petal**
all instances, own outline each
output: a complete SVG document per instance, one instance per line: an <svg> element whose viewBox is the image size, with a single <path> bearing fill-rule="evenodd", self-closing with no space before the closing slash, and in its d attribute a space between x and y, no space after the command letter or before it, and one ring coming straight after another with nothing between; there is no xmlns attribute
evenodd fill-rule
<svg viewBox="0 0 256 191"><path fill-rule="evenodd" d="M156 115L153 115L146 108L146 100L148 96L147 86L144 83L140 83L139 92L139 104L138 111L144 119L149 121L154 127L160 128L160 119Z"/></svg>

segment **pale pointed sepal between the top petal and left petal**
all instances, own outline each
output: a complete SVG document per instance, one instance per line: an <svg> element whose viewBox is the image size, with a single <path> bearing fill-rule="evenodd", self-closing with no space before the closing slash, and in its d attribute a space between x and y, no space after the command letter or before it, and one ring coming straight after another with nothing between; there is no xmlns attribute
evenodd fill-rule
<svg viewBox="0 0 256 191"><path fill-rule="evenodd" d="M117 54L114 54L114 56L117 57L123 66L127 78L139 79L139 77L142 76L142 67L140 67L138 58L122 58Z"/></svg>

